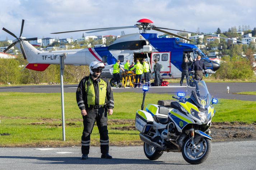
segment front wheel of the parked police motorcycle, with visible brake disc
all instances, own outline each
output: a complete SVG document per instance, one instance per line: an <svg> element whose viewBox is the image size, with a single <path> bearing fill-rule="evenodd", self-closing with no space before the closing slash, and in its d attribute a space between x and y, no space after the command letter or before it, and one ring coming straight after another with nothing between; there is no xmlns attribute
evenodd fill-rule
<svg viewBox="0 0 256 170"><path fill-rule="evenodd" d="M210 155L211 141L201 138L193 147L191 140L187 138L182 146L182 156L190 164L201 164Z"/></svg>

